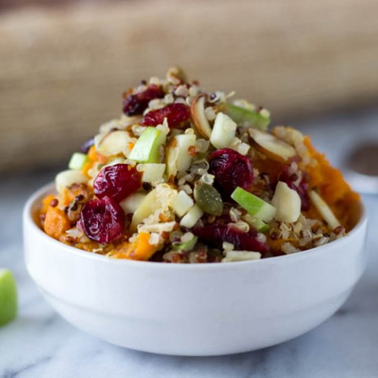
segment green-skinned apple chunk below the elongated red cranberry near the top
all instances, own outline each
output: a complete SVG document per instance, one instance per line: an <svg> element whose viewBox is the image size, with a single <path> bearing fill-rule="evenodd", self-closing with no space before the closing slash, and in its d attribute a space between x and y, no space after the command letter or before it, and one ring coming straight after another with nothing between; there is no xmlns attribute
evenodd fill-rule
<svg viewBox="0 0 378 378"><path fill-rule="evenodd" d="M135 143L129 159L138 163L159 163L160 146L165 143L166 135L155 127L146 127Z"/></svg>

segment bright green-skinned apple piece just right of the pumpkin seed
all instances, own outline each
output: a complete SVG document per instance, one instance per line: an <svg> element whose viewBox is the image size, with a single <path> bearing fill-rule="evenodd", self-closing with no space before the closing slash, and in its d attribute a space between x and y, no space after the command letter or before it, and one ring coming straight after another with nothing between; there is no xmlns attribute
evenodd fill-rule
<svg viewBox="0 0 378 378"><path fill-rule="evenodd" d="M247 190L244 190L240 186L232 192L231 198L247 210L249 214L256 216L256 218L262 221L269 222L274 218L274 214L276 214L274 206L247 192Z"/></svg>

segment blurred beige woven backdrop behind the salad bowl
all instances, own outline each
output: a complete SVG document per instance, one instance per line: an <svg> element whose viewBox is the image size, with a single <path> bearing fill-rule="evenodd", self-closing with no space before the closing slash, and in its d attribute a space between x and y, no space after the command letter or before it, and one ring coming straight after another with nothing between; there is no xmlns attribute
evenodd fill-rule
<svg viewBox="0 0 378 378"><path fill-rule="evenodd" d="M274 123L329 133L341 114L340 138L375 114L377 14L376 0L0 0L0 171L62 166L124 90L171 65Z"/></svg>

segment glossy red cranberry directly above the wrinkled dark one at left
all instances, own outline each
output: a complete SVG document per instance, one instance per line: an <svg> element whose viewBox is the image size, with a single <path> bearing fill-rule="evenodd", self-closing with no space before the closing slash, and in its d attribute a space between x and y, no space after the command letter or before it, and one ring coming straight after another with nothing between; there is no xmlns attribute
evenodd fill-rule
<svg viewBox="0 0 378 378"><path fill-rule="evenodd" d="M115 164L100 170L93 182L98 198L111 197L120 202L142 186L142 174L127 164Z"/></svg>

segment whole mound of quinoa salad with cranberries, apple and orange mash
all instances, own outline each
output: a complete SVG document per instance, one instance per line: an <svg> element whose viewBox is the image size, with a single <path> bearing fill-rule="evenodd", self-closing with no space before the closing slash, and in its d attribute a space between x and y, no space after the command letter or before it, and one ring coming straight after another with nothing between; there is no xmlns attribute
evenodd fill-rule
<svg viewBox="0 0 378 378"><path fill-rule="evenodd" d="M359 195L309 137L269 123L267 109L177 67L142 80L58 173L38 224L87 252L164 263L256 260L345 236Z"/></svg>

